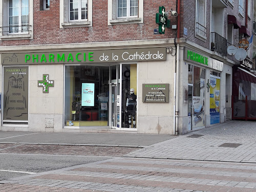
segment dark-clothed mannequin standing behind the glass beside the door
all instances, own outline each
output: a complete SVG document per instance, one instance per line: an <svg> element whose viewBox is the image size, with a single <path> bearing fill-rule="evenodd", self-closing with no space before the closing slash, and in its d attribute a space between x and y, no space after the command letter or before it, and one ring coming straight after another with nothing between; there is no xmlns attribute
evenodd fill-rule
<svg viewBox="0 0 256 192"><path fill-rule="evenodd" d="M126 99L125 112L128 114L129 126L132 128L132 117L133 117L133 128L136 128L136 104L137 95L134 94L134 89L130 90L130 95Z"/></svg>

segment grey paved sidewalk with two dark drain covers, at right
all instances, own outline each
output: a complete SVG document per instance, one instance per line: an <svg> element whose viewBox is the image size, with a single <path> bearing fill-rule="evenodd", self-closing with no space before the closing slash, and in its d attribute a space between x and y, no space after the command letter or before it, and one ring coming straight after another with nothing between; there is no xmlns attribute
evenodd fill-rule
<svg viewBox="0 0 256 192"><path fill-rule="evenodd" d="M256 163L256 122L229 121L163 141L125 157Z"/></svg>

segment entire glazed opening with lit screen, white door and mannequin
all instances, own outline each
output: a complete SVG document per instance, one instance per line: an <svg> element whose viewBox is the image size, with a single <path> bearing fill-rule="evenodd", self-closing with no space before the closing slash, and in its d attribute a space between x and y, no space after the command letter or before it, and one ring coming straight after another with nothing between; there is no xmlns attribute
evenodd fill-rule
<svg viewBox="0 0 256 192"><path fill-rule="evenodd" d="M136 93L137 64L66 66L65 125L136 128Z"/></svg>

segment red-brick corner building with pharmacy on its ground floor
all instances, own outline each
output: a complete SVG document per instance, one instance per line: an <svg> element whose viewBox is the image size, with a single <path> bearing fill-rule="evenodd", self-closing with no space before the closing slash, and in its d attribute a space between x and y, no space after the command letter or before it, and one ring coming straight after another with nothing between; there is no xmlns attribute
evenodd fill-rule
<svg viewBox="0 0 256 192"><path fill-rule="evenodd" d="M240 15L230 0L24 2L0 4L1 131L184 134L231 118L226 41L250 36L252 1Z"/></svg>

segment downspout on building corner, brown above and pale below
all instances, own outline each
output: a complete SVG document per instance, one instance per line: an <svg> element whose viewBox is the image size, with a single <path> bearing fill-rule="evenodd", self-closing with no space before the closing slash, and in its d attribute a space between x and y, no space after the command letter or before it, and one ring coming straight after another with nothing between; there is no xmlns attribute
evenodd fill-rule
<svg viewBox="0 0 256 192"><path fill-rule="evenodd" d="M176 69L175 69L175 74L174 77L176 78L175 80L175 118L174 118L174 123L175 123L175 128L174 128L174 135L178 135L178 125L179 125L179 66L180 66L180 45L177 41L179 41L180 38L180 8L181 8L181 0L176 1L176 10L178 13L177 16L177 34L176 34L176 39L175 39L175 48L176 48Z"/></svg>

